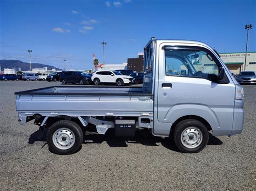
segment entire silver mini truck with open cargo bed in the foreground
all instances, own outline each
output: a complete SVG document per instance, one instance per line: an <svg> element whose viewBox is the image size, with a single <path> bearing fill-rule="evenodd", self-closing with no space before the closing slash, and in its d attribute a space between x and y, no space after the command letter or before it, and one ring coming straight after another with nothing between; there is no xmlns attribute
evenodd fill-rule
<svg viewBox="0 0 256 191"><path fill-rule="evenodd" d="M211 47L198 41L152 38L144 48L143 87L54 86L15 93L18 121L48 129L52 152L72 154L84 133L172 137L196 153L213 136L239 134L244 90ZM93 131L92 130L92 131Z"/></svg>

